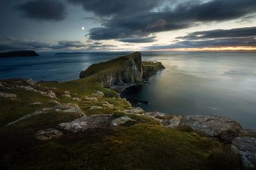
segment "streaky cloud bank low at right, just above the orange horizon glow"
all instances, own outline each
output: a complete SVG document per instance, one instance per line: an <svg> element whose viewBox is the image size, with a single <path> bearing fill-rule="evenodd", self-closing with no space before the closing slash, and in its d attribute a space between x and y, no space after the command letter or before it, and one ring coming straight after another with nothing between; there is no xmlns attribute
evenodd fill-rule
<svg viewBox="0 0 256 170"><path fill-rule="evenodd" d="M148 50L201 47L256 47L256 27L230 30L208 30L178 37L171 45L156 45Z"/></svg>

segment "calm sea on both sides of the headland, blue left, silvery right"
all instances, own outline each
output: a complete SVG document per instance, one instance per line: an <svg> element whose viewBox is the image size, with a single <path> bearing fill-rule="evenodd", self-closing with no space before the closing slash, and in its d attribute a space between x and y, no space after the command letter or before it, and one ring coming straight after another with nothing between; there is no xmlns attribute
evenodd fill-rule
<svg viewBox="0 0 256 170"><path fill-rule="evenodd" d="M0 58L0 79L32 78L36 81L78 79L92 63L129 52L90 52L40 57ZM125 97L146 111L171 115L220 115L256 129L255 52L142 52L143 60L158 60L166 69Z"/></svg>

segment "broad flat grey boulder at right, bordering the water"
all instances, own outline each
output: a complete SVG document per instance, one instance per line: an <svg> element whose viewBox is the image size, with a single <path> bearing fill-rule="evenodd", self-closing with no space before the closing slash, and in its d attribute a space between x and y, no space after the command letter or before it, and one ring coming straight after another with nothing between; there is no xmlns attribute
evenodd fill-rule
<svg viewBox="0 0 256 170"><path fill-rule="evenodd" d="M233 120L210 115L185 115L180 125L187 125L196 132L224 142L231 142L242 130L241 125Z"/></svg>

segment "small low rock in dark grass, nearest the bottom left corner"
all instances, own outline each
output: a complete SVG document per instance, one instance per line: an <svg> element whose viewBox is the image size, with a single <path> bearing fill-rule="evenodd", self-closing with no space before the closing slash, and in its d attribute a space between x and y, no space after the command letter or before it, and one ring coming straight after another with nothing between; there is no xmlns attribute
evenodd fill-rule
<svg viewBox="0 0 256 170"><path fill-rule="evenodd" d="M60 130L56 130L53 128L49 128L46 130L39 130L36 132L36 139L37 140L50 140L55 137L59 137L63 135L63 132L60 132Z"/></svg>

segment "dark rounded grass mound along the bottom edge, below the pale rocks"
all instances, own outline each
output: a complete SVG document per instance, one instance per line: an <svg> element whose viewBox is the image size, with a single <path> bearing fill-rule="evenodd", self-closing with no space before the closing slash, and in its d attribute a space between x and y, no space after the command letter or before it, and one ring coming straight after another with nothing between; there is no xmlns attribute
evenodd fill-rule
<svg viewBox="0 0 256 170"><path fill-rule="evenodd" d="M219 165L220 169L239 169L241 165L240 158L219 142L193 132L145 123L87 130L23 146L4 154L1 166L6 169L200 170L216 169Z"/></svg>

